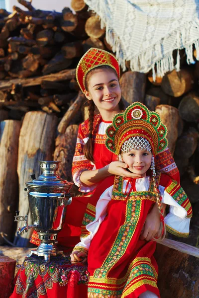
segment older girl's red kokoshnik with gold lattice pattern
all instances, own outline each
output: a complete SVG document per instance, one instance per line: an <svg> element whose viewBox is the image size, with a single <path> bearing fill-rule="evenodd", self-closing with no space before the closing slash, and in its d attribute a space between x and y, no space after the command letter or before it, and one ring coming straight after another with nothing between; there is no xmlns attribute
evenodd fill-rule
<svg viewBox="0 0 199 298"><path fill-rule="evenodd" d="M102 65L114 69L119 78L120 70L117 59L107 51L91 48L81 58L76 69L76 78L82 92L85 92L85 77L89 71Z"/></svg>

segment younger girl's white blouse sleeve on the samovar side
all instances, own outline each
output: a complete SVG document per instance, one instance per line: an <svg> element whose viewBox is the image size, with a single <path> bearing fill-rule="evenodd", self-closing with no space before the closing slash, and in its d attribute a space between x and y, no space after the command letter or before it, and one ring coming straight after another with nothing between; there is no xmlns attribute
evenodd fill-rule
<svg viewBox="0 0 199 298"><path fill-rule="evenodd" d="M75 248L78 249L78 246L81 246L89 249L91 240L97 233L100 224L103 222L106 216L107 205L112 197L112 189L113 185L107 188L100 196L100 199L98 200L98 203L96 205L96 219L92 223L87 224L86 226L86 229L90 232L90 234L87 237L81 238L81 242L79 242L75 246Z"/></svg>

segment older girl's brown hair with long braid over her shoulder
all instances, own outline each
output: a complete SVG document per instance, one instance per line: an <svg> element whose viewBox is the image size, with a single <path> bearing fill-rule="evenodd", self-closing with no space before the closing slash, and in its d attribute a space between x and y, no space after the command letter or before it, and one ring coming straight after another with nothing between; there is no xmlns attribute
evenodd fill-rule
<svg viewBox="0 0 199 298"><path fill-rule="evenodd" d="M93 70L91 70L85 78L85 89L88 91L88 83L89 83L89 79L91 77L91 75L99 70L99 69L106 69L109 71L112 71L113 73L115 73L117 75L117 73L115 72L115 70L113 68L111 68L108 65L102 65L99 66ZM119 110L122 111L124 110L124 103L122 101L122 98L119 101ZM95 103L93 100L89 100L89 140L88 142L85 144L84 146L84 155L86 156L87 159L89 159L92 162L94 161L94 157L93 157L93 150L94 150L94 141L93 141L93 135L94 135L94 127L93 127L93 123L94 123L94 112L95 112Z"/></svg>

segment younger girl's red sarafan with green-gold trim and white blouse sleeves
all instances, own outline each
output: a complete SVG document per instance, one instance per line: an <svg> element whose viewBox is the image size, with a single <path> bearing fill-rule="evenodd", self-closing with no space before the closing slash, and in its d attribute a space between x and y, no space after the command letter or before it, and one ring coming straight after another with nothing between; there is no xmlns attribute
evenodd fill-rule
<svg viewBox="0 0 199 298"><path fill-rule="evenodd" d="M192 207L184 190L165 174L159 173L156 183L162 202L170 205L166 229L187 237ZM156 242L139 239L146 217L156 204L151 178L115 176L114 182L105 179L104 184L107 189L97 203L96 219L87 225L88 234L74 248L89 249L88 298L138 298L146 291L160 297L153 256Z"/></svg>

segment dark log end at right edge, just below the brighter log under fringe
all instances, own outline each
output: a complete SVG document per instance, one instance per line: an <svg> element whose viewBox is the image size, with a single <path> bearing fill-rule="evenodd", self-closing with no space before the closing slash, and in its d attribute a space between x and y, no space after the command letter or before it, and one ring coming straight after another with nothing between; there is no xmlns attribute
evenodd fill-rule
<svg viewBox="0 0 199 298"><path fill-rule="evenodd" d="M184 96L179 104L182 119L188 122L199 122L199 96L192 92Z"/></svg>

